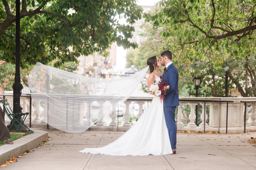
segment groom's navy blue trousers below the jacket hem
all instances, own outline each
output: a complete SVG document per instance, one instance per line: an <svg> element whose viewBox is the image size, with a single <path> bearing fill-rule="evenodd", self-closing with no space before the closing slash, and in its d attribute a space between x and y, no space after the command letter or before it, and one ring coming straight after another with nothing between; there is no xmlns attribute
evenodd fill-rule
<svg viewBox="0 0 256 170"><path fill-rule="evenodd" d="M176 106L168 106L164 107L165 113L165 122L169 133L169 138L171 142L172 149L176 149L176 136L177 136L177 128L175 122L175 110Z"/></svg>

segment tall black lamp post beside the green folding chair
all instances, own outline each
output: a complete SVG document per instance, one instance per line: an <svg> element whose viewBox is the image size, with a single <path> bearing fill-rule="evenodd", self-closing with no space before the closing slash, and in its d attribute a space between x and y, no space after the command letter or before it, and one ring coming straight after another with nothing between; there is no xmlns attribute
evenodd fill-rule
<svg viewBox="0 0 256 170"><path fill-rule="evenodd" d="M13 112L20 113L20 95L23 86L20 83L20 0L16 0L16 58L15 82L13 84Z"/></svg>

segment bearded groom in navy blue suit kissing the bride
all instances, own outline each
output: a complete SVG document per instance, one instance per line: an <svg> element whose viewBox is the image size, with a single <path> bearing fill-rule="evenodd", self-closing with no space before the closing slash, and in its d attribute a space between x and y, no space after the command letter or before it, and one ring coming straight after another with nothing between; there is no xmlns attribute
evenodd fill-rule
<svg viewBox="0 0 256 170"><path fill-rule="evenodd" d="M171 51L166 50L161 53L161 62L162 66L165 66L162 80L170 85L170 91L166 93L164 98L165 121L172 146L172 152L173 154L176 154L177 128L175 122L175 110L176 106L179 106L179 72L172 63Z"/></svg>

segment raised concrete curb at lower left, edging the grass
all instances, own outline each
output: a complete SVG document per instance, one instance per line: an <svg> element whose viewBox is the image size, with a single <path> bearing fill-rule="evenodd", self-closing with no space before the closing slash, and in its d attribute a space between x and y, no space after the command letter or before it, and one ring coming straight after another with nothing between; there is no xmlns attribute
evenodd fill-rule
<svg viewBox="0 0 256 170"><path fill-rule="evenodd" d="M10 158L13 158L13 156L19 156L26 152L26 150L33 149L46 138L48 138L48 132L43 130L34 130L34 133L15 140L12 145L5 144L1 146L0 165L4 164L5 161L8 161Z"/></svg>

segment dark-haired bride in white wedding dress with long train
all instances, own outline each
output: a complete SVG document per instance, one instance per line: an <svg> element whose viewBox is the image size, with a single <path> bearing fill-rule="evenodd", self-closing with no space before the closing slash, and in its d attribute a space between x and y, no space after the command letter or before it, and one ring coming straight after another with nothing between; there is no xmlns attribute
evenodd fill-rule
<svg viewBox="0 0 256 170"><path fill-rule="evenodd" d="M158 68L162 66L156 56L147 60L150 75L148 89L154 82L160 81L161 73ZM152 93L152 92L151 92ZM105 154L117 156L144 156L172 154L169 134L165 122L164 106L160 97L154 96L149 107L139 120L125 134L107 146L100 148L85 148L82 153Z"/></svg>

